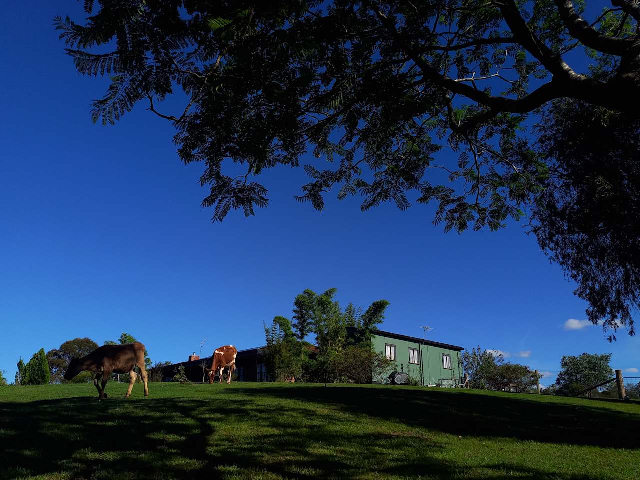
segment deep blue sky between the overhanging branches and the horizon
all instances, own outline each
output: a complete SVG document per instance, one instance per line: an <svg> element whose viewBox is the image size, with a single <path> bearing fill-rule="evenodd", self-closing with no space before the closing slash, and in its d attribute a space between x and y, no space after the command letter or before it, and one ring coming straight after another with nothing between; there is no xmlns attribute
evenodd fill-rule
<svg viewBox="0 0 640 480"><path fill-rule="evenodd" d="M580 323L586 304L522 223L444 234L431 207L362 213L358 198L328 197L319 213L294 201L307 179L285 168L263 175L268 209L212 224L202 166L180 163L168 122L140 105L115 127L92 124L104 82L76 73L52 29L55 15L80 19L81 5L11 2L5 12L0 369L10 381L20 357L75 337L102 344L128 332L152 360L172 362L205 338L207 355L260 346L262 323L291 316L296 294L330 287L344 305L390 301L384 330L421 336L428 324L433 340L498 349L543 372L583 352L640 369L640 337L621 331L609 344Z"/></svg>

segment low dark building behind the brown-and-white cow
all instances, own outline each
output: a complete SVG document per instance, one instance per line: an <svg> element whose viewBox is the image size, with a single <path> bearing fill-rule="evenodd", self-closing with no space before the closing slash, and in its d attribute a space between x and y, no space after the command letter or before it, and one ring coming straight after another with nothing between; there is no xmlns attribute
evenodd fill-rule
<svg viewBox="0 0 640 480"><path fill-rule="evenodd" d="M251 348L238 351L236 357L236 376L234 381L268 381L267 368L264 365L264 349L266 347ZM172 381L179 367L184 367L184 374L189 381L205 382L209 381L209 376L202 365L211 368L211 356L199 358L189 355L188 362L169 365L163 368L163 381ZM228 370L227 370L228 372Z"/></svg>

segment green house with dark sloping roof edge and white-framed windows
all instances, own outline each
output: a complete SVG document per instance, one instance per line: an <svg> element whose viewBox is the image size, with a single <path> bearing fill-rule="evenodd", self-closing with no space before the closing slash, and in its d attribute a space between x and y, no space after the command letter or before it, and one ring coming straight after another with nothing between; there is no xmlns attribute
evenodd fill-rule
<svg viewBox="0 0 640 480"><path fill-rule="evenodd" d="M405 372L425 386L454 387L460 383L462 347L376 330L373 348L394 362L388 374ZM380 383L380 379L373 381Z"/></svg>

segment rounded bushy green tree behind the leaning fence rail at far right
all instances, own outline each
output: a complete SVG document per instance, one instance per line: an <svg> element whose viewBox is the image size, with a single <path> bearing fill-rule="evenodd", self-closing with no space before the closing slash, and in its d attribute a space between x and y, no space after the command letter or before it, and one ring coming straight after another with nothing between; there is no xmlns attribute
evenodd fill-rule
<svg viewBox="0 0 640 480"><path fill-rule="evenodd" d="M611 354L583 353L580 356L563 356L556 383L565 394L578 394L586 388L613 378L609 362Z"/></svg>

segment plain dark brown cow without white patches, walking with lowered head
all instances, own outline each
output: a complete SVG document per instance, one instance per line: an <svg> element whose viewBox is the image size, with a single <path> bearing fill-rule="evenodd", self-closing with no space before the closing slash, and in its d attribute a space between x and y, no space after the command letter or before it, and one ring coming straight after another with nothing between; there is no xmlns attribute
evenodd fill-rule
<svg viewBox="0 0 640 480"><path fill-rule="evenodd" d="M131 343L128 345L105 345L100 347L93 353L83 358L73 358L69 362L69 367L65 373L65 380L71 380L77 374L84 371L95 372L93 385L98 389L99 398L108 398L104 393L104 387L107 385L111 373L128 373L129 390L125 398L131 396L133 384L136 382L136 372L133 367L138 365L142 381L145 383L145 397L149 396L149 386L147 382L147 369L145 369L145 346L141 343ZM100 379L102 379L102 388L100 388Z"/></svg>

